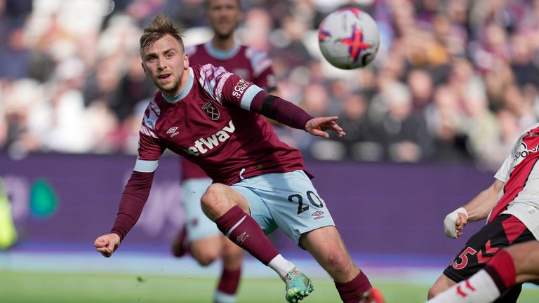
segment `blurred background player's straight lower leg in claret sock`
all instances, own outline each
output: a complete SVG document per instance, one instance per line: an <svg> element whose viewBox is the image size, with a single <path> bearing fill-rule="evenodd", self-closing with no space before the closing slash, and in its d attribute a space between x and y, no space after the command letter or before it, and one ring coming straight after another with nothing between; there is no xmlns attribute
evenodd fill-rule
<svg viewBox="0 0 539 303"><path fill-rule="evenodd" d="M220 236L222 245L222 272L215 292L215 303L236 302L236 292L241 278L241 260L244 250L234 244L229 238Z"/></svg>

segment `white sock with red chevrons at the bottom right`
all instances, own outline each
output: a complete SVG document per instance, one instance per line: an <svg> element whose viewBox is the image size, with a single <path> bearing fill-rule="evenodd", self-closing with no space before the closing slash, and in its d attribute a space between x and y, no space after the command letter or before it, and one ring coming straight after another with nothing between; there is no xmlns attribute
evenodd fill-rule
<svg viewBox="0 0 539 303"><path fill-rule="evenodd" d="M461 281L436 297L429 303L490 303L500 297L500 290L491 276L481 269L468 280Z"/></svg>

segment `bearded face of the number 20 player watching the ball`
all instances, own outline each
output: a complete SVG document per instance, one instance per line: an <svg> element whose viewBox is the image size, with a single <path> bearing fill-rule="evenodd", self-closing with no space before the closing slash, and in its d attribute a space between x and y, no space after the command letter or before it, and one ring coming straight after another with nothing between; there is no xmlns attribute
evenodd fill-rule
<svg viewBox="0 0 539 303"><path fill-rule="evenodd" d="M180 43L171 35L150 44L140 51L142 68L146 76L166 96L178 95L189 77L189 59Z"/></svg>

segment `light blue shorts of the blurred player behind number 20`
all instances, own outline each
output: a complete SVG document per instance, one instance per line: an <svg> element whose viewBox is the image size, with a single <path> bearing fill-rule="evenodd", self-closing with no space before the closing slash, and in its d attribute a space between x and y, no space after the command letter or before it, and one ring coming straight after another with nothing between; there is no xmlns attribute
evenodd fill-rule
<svg viewBox="0 0 539 303"><path fill-rule="evenodd" d="M200 206L200 198L211 184L211 179L189 179L182 183L183 209L189 241L222 235L214 222L208 219Z"/></svg>

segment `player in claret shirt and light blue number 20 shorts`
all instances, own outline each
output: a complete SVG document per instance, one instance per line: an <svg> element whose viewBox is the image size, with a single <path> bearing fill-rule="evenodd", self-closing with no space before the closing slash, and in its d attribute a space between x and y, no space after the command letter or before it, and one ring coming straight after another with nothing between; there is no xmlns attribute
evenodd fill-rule
<svg viewBox="0 0 539 303"><path fill-rule="evenodd" d="M138 158L117 219L109 234L95 239L96 250L110 257L119 247L142 213L161 154L171 149L211 177L202 210L225 236L279 274L288 302L313 288L265 236L277 228L326 269L343 302L381 302L347 253L302 155L277 138L264 116L326 138L326 130L345 135L337 117L313 118L223 68L189 67L180 30L161 15L145 28L140 54L159 92L140 127Z"/></svg>

